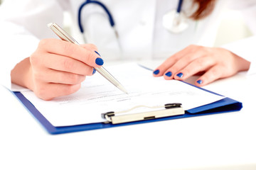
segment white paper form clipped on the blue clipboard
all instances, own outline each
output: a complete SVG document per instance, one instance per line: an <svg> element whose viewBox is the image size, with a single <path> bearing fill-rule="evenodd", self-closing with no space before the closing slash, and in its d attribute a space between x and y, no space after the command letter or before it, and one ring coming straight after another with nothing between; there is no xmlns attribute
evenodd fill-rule
<svg viewBox="0 0 256 170"><path fill-rule="evenodd" d="M86 77L75 94L53 101L43 101L33 91L23 91L22 94L55 127L104 122L101 113L125 111L138 105L182 103L183 108L188 110L224 98L181 81L153 77L151 71L136 63L119 64L107 70L129 94L124 94L99 73Z"/></svg>

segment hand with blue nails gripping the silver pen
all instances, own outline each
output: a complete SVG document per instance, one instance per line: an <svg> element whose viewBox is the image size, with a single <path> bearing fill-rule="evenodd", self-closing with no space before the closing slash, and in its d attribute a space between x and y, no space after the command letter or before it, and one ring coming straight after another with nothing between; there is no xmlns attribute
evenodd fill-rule
<svg viewBox="0 0 256 170"><path fill-rule="evenodd" d="M78 91L85 77L95 73L93 67L102 64L95 45L44 39L31 57L16 65L11 79L48 101Z"/></svg>

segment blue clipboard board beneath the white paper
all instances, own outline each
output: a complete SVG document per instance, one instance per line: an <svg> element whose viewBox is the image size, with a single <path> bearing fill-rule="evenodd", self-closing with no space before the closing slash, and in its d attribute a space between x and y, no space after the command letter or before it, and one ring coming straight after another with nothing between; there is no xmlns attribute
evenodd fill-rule
<svg viewBox="0 0 256 170"><path fill-rule="evenodd" d="M191 85L191 84L189 84ZM191 85L193 86L193 85ZM196 86L198 89L208 91L206 89L202 89L198 86ZM210 93L213 93L212 91L208 91ZM139 123L151 123L155 121L163 121L163 120L171 120L171 119L178 119L178 118L190 118L194 116L200 116L200 115L210 115L210 114L217 114L217 113L228 113L232 111L240 111L242 108L242 103L239 101L235 101L232 98L223 98L220 101L215 101L214 103L210 103L204 106L200 106L197 108L190 109L185 112L183 115L174 115L170 117L165 118L156 118L156 119L150 119L150 120L142 120L142 121L136 121L131 123L121 123L121 124L111 124L111 123L90 123L90 124L84 124L84 125L71 125L71 126L62 126L62 127L55 127L36 109L33 104L28 101L27 98L23 96L20 92L13 92L14 95L18 98L21 103L23 103L23 106L26 107L26 109L32 113L32 115L43 125L43 128L45 128L50 134L62 134L62 133L68 133L68 132L79 132L84 130L96 130L96 129L102 129L102 128L114 128L124 125L136 125ZM215 94L215 93L213 93ZM219 94L218 94L219 95Z"/></svg>

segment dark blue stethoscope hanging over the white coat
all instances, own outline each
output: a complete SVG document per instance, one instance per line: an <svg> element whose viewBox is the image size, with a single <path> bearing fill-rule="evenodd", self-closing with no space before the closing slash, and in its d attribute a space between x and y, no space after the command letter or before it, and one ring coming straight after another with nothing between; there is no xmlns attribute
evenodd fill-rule
<svg viewBox="0 0 256 170"><path fill-rule="evenodd" d="M184 30L186 30L186 28L188 28L187 18L184 15L184 13L181 11L182 2L183 0L179 0L178 7L166 13L163 17L163 26L164 28L166 28L166 30L169 30L170 33L182 33ZM107 9L105 4L102 4L102 2L97 0L87 0L80 5L80 8L78 10L78 26L80 28L80 32L84 33L84 29L82 27L81 13L82 13L82 8L85 7L87 4L96 4L103 8L103 10L107 13L107 16L109 18L110 26L114 29L115 35L117 36L117 39L118 39L117 30L114 28L115 24L114 24L114 19L112 17L112 14Z"/></svg>

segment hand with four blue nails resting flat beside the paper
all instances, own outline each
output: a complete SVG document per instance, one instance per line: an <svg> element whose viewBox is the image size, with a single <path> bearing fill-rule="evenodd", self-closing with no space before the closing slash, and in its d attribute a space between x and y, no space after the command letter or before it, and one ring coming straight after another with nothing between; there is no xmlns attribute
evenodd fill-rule
<svg viewBox="0 0 256 170"><path fill-rule="evenodd" d="M164 79L185 80L194 74L202 73L195 84L204 86L216 79L231 77L237 72L249 69L250 62L220 47L189 45L169 57L153 74L164 75Z"/></svg>

